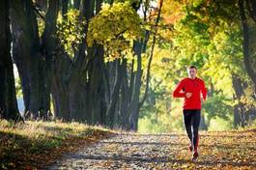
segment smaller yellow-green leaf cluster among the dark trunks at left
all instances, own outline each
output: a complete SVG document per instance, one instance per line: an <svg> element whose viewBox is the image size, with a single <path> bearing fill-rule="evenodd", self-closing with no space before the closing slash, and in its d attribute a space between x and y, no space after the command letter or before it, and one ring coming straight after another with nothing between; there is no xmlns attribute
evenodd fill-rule
<svg viewBox="0 0 256 170"><path fill-rule="evenodd" d="M69 10L67 20L61 14L57 18L56 37L70 56L85 39L85 24L85 18L80 17L79 11L74 9Z"/></svg>

